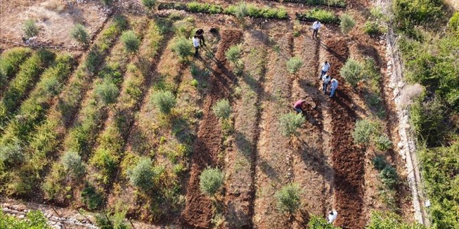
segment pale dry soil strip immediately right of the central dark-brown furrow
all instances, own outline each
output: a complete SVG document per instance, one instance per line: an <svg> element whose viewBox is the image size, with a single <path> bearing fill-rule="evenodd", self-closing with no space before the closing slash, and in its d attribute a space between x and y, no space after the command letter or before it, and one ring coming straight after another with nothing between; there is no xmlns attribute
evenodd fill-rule
<svg viewBox="0 0 459 229"><path fill-rule="evenodd" d="M265 73L267 34L258 30L245 33L243 49L245 73L238 80L240 96L233 103L234 134L225 152L225 228L253 228L256 142L260 120L260 94ZM256 49L254 48L256 47Z"/></svg>

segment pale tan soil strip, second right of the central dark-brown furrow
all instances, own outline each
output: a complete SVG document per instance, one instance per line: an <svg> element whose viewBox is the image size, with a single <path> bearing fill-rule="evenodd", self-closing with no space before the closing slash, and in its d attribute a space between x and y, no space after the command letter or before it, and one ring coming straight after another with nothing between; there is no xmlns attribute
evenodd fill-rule
<svg viewBox="0 0 459 229"><path fill-rule="evenodd" d="M292 52L292 36L286 33L273 35L277 44L269 50L265 92L262 94L260 138L257 145L256 199L253 224L257 228L286 228L287 217L276 209L274 194L290 181L290 154L288 139L282 135L279 116L291 111L290 74L286 61Z"/></svg>

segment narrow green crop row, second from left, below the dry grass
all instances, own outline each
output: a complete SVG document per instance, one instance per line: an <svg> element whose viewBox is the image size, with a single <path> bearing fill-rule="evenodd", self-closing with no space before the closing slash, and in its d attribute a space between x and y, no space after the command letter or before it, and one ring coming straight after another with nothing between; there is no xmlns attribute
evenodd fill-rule
<svg viewBox="0 0 459 229"><path fill-rule="evenodd" d="M0 102L0 129L8 123L27 92L34 86L40 74L54 62L55 54L45 49L39 50L30 59L21 65L16 78L11 81Z"/></svg>

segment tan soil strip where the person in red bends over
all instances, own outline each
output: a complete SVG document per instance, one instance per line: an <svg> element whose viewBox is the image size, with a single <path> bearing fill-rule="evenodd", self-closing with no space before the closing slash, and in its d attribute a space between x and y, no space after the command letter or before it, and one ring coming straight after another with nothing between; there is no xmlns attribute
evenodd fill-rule
<svg viewBox="0 0 459 229"><path fill-rule="evenodd" d="M297 73L293 81L292 99L302 98L308 101L306 122L299 130L299 135L292 141L294 182L301 187L301 200L306 204L308 213L324 215L327 208L326 200L330 198L331 166L328 164L323 141L323 116L321 113L320 90L314 86L317 79L319 47L309 36L295 38L294 53L301 57L305 65ZM330 150L328 150L330 151Z"/></svg>

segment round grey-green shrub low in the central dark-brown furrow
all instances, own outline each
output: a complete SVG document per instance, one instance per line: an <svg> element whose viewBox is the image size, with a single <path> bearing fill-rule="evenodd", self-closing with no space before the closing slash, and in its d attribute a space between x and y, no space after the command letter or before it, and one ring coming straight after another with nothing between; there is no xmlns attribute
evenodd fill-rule
<svg viewBox="0 0 459 229"><path fill-rule="evenodd" d="M224 176L221 170L208 167L206 170L203 170L199 176L199 188L208 196L215 196L221 185L223 185L223 178Z"/></svg>

